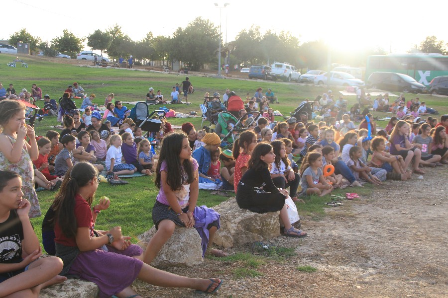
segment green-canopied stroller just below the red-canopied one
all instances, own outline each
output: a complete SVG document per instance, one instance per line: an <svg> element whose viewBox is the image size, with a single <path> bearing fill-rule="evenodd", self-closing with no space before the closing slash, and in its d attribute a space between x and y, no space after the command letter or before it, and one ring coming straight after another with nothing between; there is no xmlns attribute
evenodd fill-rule
<svg viewBox="0 0 448 298"><path fill-rule="evenodd" d="M237 133L245 131L249 128L260 116L260 112L253 112L252 116L247 118L243 124L246 116L237 119L229 112L221 112L218 114L218 123L221 126L221 134L225 135L221 140L221 147L224 149L231 149L233 142L238 138Z"/></svg>

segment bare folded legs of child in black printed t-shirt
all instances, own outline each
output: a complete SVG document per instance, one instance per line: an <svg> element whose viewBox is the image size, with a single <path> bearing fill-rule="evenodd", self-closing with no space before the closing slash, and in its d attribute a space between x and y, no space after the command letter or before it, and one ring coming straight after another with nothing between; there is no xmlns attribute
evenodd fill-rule
<svg viewBox="0 0 448 298"><path fill-rule="evenodd" d="M42 258L29 264L28 270L0 283L1 296L38 297L41 289L67 280L58 275L62 270L58 257Z"/></svg>

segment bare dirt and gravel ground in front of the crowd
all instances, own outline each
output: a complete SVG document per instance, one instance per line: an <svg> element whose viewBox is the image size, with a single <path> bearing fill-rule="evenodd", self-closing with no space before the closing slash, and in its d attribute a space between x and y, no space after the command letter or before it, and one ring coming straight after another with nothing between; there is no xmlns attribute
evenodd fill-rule
<svg viewBox="0 0 448 298"><path fill-rule="evenodd" d="M237 280L231 270L238 264L210 259L169 271L224 278L216 297L447 297L448 167L425 169L423 179L387 181L371 196L328 209L321 221L303 219L305 239L271 240L297 247L298 256L267 262L257 269L261 277ZM299 265L318 271L299 272ZM135 286L146 297L195 297L185 289Z"/></svg>

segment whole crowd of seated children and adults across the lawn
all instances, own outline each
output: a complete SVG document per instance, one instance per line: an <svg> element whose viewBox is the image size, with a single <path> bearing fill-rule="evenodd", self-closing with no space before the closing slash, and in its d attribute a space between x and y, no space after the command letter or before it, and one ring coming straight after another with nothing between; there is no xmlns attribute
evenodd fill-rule
<svg viewBox="0 0 448 298"><path fill-rule="evenodd" d="M80 274L86 280L99 275L103 279L99 282L100 291L102 295L109 296L133 295L129 285L137 277L156 285L191 287L209 293L216 292L222 280L183 278L159 272L148 265L171 237L176 225L198 230L203 255L225 256L223 251L210 248L220 227L220 215L213 209L196 206L200 183L222 183L224 189L234 190L240 208L256 213L280 211L283 233L304 237L307 233L294 227L288 218L288 197L302 201L301 196L325 196L344 184L360 187L366 182L380 185L386 179L407 180L412 173L425 174L424 166L448 164L448 115L443 115L440 122L432 117L424 122L420 115L426 115L428 109L418 98L411 101L409 107L405 106L404 98L396 105L389 105L386 97L386 101L382 99L382 104L375 108L375 100L374 109L383 107L396 112L386 129L376 133L373 116L361 113L359 105L353 111L345 112L343 98L333 101L332 95L324 95L325 98L321 96L314 102L313 112L324 111L322 120L327 121L316 125L292 117L286 122L276 123L273 130L270 125L275 122L269 107L270 100L261 97L260 110L264 117L239 134L232 150L222 151L221 138L215 133L196 132L191 123L182 126L186 134L175 133L171 125L162 120L160 131L153 135L153 139L160 142L160 155L154 153L151 142L128 118L130 111L120 101L112 103L113 94L106 99L105 117L101 117L98 111L93 112L95 105L89 104L82 116L79 112L64 116L61 133L50 130L45 137L37 138L33 128L25 124L25 105L20 100L0 101L0 192L11 201L5 204L3 200L6 199L0 200L0 219L4 220L0 221L0 226L11 216L16 217L23 229L21 235L28 235L25 237L27 241L19 245L19 249L23 248L28 254L24 259L26 262L19 262L20 266L12 266L5 272L20 269L22 271L17 274L30 276L20 288L10 286L14 279L0 273L0 289L9 286L14 292L38 293L44 286L65 280L57 275L62 270L62 262L58 258L41 262L41 276L31 278L30 272L34 272L37 265L31 266L30 263L40 255L40 251L35 248L35 234L32 236L32 228L29 228L29 219L26 220L25 215L29 218L41 216L36 186L53 191L62 186L51 209L54 211L56 255L64 261L64 274ZM246 112L255 109L253 101L249 100L248 105L249 111ZM344 113L340 114L340 111ZM355 130L352 121L359 120L359 115L368 117L369 121L362 118L359 129ZM109 130L113 124L120 127L116 133L110 130L109 135L103 136L95 124L101 120ZM377 136L374 137L375 134ZM334 171L328 173L328 166ZM91 213L89 205L98 187L97 175L103 170L108 175L134 174L137 171L144 175L155 173L155 184L160 191L152 218L158 231L145 254L131 245L118 227L91 237L98 213L95 208ZM75 205L79 209L74 210ZM78 225L77 229L77 221L87 225ZM30 238L32 245L29 244ZM110 251L102 253L108 253L104 256L110 260L109 265L130 266L123 273L122 285L111 289L104 280L110 277L104 273L93 270L86 274L92 269L87 265L98 262L95 261L98 248L108 243ZM82 253L75 256L76 261L71 266L67 266L68 256L73 256L71 253L76 251L74 247ZM130 261L129 257L133 260ZM0 258L0 263L3 261ZM26 266L28 264L30 266ZM170 282L160 282L154 277L155 273L166 275Z"/></svg>

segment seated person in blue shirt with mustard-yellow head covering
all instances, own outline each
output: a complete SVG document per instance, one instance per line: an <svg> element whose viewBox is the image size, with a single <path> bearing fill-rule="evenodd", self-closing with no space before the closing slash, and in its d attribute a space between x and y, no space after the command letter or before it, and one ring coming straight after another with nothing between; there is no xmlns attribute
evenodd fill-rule
<svg viewBox="0 0 448 298"><path fill-rule="evenodd" d="M221 145L220 137L215 133L208 133L201 140L206 145L193 152L193 158L198 162L199 183L216 183L216 180L207 176L212 163L212 152L215 152Z"/></svg>

